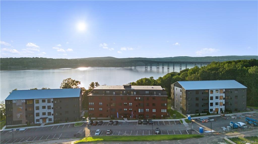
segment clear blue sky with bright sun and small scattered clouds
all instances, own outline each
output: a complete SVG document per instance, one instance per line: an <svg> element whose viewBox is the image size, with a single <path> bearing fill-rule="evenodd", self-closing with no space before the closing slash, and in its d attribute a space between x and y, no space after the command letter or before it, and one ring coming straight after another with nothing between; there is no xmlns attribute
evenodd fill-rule
<svg viewBox="0 0 258 144"><path fill-rule="evenodd" d="M258 55L257 1L1 1L1 57Z"/></svg>

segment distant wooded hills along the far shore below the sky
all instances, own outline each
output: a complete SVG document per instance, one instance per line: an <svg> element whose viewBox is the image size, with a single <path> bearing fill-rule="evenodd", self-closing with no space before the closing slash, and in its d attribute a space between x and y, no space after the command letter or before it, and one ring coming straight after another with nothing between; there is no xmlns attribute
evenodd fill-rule
<svg viewBox="0 0 258 144"><path fill-rule="evenodd" d="M78 68L78 67L122 67L119 62L130 60L154 60L154 61L229 61L229 60L258 59L258 56L215 56L215 57L165 57L165 58L115 58L115 57L91 57L79 59L53 59L39 57L1 58L1 70L29 69L29 68ZM143 64L138 63L138 66Z"/></svg>

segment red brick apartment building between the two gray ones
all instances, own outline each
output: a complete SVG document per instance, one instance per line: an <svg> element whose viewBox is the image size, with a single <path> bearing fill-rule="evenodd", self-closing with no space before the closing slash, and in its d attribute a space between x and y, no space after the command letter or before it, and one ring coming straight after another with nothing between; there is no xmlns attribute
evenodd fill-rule
<svg viewBox="0 0 258 144"><path fill-rule="evenodd" d="M98 86L88 100L93 118L167 117L167 92L161 86Z"/></svg>

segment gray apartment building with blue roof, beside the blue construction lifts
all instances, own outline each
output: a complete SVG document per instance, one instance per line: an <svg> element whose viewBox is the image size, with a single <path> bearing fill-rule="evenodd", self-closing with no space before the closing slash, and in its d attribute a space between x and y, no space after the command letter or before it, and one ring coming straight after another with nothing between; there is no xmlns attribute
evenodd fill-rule
<svg viewBox="0 0 258 144"><path fill-rule="evenodd" d="M184 115L246 110L247 87L235 80L177 81L171 108Z"/></svg>

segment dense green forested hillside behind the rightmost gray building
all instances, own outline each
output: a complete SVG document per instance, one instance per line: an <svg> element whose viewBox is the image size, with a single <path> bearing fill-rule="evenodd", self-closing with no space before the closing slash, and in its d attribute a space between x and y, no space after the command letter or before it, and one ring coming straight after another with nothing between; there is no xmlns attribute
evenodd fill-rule
<svg viewBox="0 0 258 144"><path fill-rule="evenodd" d="M193 67L180 73L168 73L158 79L141 78L132 85L160 85L171 95L170 85L176 81L236 80L247 87L247 106L258 106L258 60L212 62L203 67Z"/></svg>

